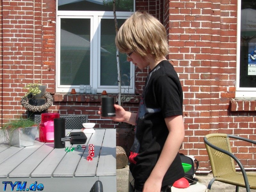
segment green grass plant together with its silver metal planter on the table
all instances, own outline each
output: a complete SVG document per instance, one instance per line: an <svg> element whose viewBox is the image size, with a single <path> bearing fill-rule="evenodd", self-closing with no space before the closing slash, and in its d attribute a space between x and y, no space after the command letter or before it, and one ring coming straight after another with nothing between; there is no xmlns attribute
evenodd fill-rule
<svg viewBox="0 0 256 192"><path fill-rule="evenodd" d="M27 147L34 145L37 129L38 124L32 119L20 117L11 119L9 123L4 124L2 132L10 146Z"/></svg>

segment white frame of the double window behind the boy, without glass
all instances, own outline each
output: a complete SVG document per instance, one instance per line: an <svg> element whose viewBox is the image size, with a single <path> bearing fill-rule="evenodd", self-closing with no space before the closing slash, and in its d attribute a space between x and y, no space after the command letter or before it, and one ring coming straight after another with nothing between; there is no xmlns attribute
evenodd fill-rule
<svg viewBox="0 0 256 192"><path fill-rule="evenodd" d="M116 18L127 19L133 12L116 12ZM91 49L90 49L90 84L96 88L98 93L106 90L108 93L118 93L118 86L100 86L100 20L113 19L113 12L102 11L57 11L56 22L56 92L71 92L74 88L79 92L79 85L60 85L60 19L62 18L83 18L91 19ZM93 38L94 37L94 38ZM98 38L95 38L98 37ZM98 48L96 50L96 48ZM122 87L122 93L135 92L135 67L130 62L131 83L130 86ZM117 79L116 79L117 80Z"/></svg>

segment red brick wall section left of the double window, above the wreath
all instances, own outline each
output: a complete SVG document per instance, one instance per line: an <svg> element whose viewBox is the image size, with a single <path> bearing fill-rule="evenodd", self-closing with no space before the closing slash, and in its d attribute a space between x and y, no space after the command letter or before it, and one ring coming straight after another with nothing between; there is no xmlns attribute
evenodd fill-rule
<svg viewBox="0 0 256 192"><path fill-rule="evenodd" d="M23 87L41 81L55 90L55 1L1 1L1 123L25 113Z"/></svg>

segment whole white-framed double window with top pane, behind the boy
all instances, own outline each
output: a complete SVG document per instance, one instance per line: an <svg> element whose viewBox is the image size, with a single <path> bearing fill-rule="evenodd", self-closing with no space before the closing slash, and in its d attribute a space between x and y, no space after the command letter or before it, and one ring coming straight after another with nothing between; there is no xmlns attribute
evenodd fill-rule
<svg viewBox="0 0 256 192"><path fill-rule="evenodd" d="M133 0L116 1L118 27L134 12ZM112 0L59 0L56 92L79 92L90 84L117 93L115 20ZM122 93L134 93L134 66L119 53Z"/></svg>

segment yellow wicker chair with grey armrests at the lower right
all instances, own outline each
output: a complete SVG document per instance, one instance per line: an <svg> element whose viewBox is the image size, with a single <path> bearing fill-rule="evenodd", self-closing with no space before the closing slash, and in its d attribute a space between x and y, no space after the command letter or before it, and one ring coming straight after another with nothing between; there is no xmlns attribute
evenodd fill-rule
<svg viewBox="0 0 256 192"><path fill-rule="evenodd" d="M256 174L246 173L239 159L232 154L229 138L247 141L256 144L256 141L249 140L235 135L212 133L204 137L204 144L210 159L213 179L208 184L208 189L212 187L212 183L220 181L236 186L236 192L239 187L246 188L249 192L256 189ZM239 165L242 172L236 172L235 163Z"/></svg>

